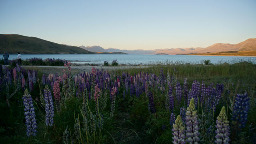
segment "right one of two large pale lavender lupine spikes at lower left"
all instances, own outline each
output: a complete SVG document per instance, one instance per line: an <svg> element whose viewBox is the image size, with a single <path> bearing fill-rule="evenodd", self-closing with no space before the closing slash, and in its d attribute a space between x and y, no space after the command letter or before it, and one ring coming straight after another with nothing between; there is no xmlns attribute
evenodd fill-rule
<svg viewBox="0 0 256 144"><path fill-rule="evenodd" d="M44 102L45 102L45 124L46 126L53 126L54 105L52 100L52 93L48 85L44 88Z"/></svg>

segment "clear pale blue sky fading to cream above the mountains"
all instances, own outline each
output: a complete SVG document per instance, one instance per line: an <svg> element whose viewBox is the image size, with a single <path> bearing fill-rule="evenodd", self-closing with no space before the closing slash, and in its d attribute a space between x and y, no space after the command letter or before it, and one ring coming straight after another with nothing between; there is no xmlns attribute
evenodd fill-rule
<svg viewBox="0 0 256 144"><path fill-rule="evenodd" d="M256 38L256 0L0 0L0 34L126 50Z"/></svg>

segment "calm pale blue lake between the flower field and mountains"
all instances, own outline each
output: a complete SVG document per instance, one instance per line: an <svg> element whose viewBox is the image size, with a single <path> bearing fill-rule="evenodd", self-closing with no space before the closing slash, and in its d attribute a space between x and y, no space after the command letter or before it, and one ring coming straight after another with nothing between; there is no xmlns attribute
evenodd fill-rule
<svg viewBox="0 0 256 144"><path fill-rule="evenodd" d="M200 64L202 60L210 60L213 64L222 64L227 62L233 64L241 60L249 60L256 62L256 57L248 56L195 56L195 55L156 55L156 54L22 54L22 59L27 58L56 58L71 61L80 61L76 63L104 64L107 60L112 64L114 59L118 60L118 64ZM17 54L10 54L9 59L16 59Z"/></svg>

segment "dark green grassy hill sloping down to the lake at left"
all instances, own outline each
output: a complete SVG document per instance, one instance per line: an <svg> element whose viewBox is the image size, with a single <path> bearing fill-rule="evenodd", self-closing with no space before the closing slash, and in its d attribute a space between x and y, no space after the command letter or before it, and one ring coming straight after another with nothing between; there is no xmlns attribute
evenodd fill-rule
<svg viewBox="0 0 256 144"><path fill-rule="evenodd" d="M77 46L66 46L36 37L0 34L0 52L9 54L94 54Z"/></svg>

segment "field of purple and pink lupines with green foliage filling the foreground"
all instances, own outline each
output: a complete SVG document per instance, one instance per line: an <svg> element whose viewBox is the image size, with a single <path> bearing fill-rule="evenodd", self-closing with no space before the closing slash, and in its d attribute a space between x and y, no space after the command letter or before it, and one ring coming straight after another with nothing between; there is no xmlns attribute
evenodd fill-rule
<svg viewBox="0 0 256 144"><path fill-rule="evenodd" d="M2 143L256 143L252 83L180 80L175 68L74 76L64 66L48 76L0 67Z"/></svg>

